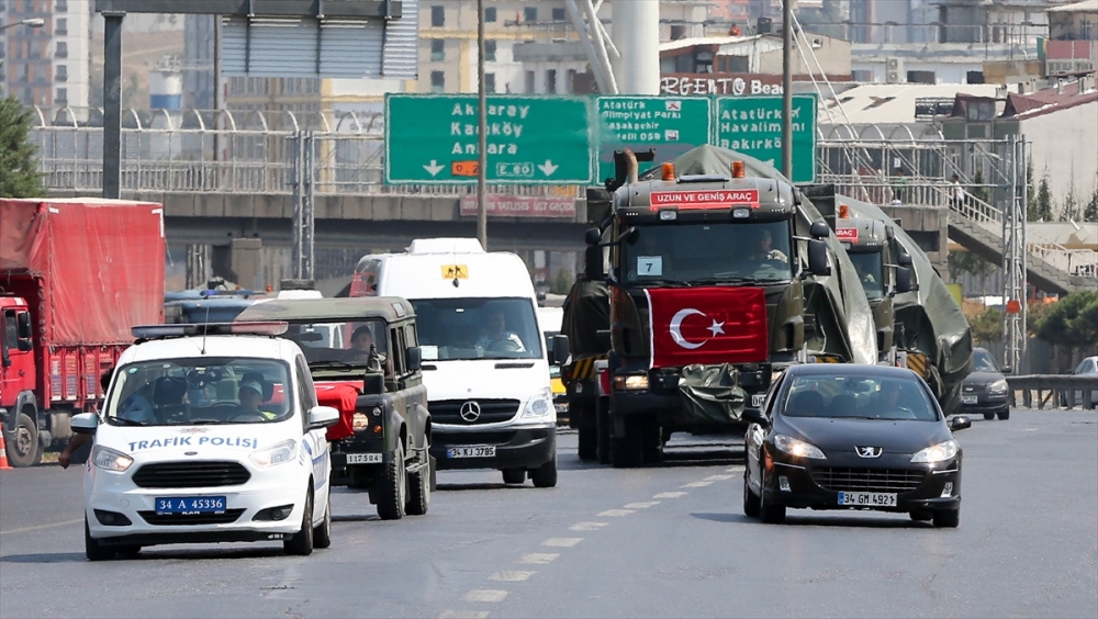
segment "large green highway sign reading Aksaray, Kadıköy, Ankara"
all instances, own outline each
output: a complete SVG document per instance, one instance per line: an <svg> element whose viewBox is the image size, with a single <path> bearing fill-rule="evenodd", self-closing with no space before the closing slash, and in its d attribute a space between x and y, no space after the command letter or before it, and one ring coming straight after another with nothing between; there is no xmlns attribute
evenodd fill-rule
<svg viewBox="0 0 1098 619"><path fill-rule="evenodd" d="M488 97L491 183L589 184L590 102ZM385 182L477 182L475 94L386 94Z"/></svg>

